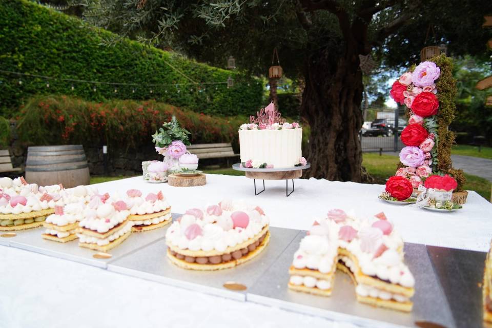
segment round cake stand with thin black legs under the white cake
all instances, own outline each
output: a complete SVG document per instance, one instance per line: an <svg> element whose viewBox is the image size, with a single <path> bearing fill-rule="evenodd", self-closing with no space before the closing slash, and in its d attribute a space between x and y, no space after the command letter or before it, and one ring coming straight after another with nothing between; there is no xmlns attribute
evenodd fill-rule
<svg viewBox="0 0 492 328"><path fill-rule="evenodd" d="M246 173L246 177L253 179L255 185L255 196L258 196L265 191L265 180L283 180L285 179L285 196L289 197L295 190L294 179L300 178L302 176L302 170L309 169L311 167L310 163L302 166L295 166L292 168L283 169L248 169L243 168L241 163L236 163L232 168L236 171L243 171ZM256 191L256 179L263 180L263 190ZM292 180L292 190L289 192L289 180Z"/></svg>

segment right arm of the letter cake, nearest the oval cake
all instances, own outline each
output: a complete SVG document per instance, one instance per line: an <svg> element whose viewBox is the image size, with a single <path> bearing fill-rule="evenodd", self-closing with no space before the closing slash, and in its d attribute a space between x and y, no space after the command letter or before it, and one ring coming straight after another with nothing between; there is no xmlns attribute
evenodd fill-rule
<svg viewBox="0 0 492 328"><path fill-rule="evenodd" d="M124 200L130 211L128 219L133 221L133 232L158 229L173 220L171 206L161 191L144 196L141 191L130 189Z"/></svg>

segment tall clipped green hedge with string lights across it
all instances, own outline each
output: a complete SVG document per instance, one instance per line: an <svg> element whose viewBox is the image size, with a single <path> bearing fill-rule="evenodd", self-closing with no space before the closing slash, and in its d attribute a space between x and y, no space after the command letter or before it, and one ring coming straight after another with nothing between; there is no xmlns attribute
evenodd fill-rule
<svg viewBox="0 0 492 328"><path fill-rule="evenodd" d="M248 115L262 105L259 79L128 39L114 46L102 44L103 39L112 36L78 18L26 0L0 0L1 70L112 83L173 85L117 87L115 93L112 85L96 85L93 91L94 84L51 80L47 88L45 79L20 77L19 84L19 76L0 74L0 114L13 116L23 99L33 94L70 94L96 101L151 98L213 115ZM175 84L190 81L167 63L199 83L223 82L231 76L234 86L228 89L224 84L204 84L199 91L196 85L176 88Z"/></svg>

